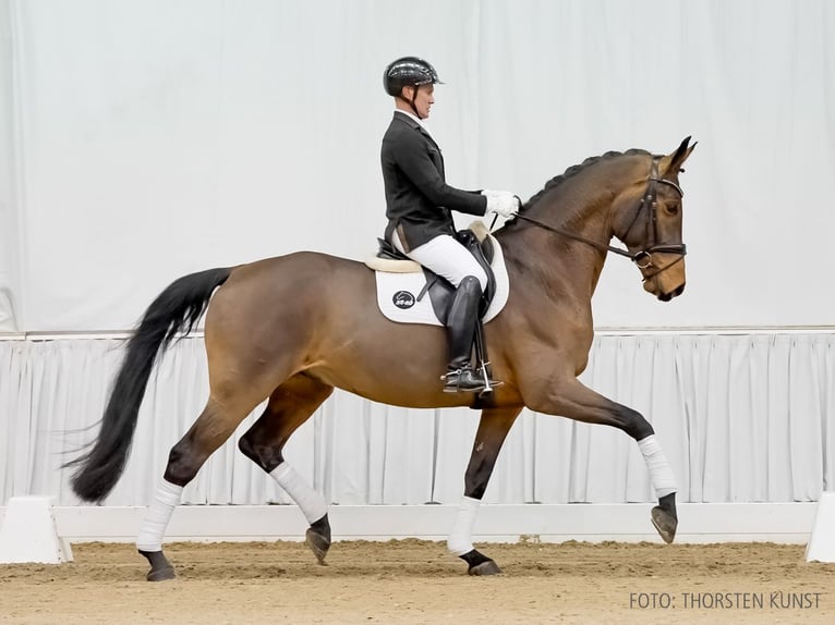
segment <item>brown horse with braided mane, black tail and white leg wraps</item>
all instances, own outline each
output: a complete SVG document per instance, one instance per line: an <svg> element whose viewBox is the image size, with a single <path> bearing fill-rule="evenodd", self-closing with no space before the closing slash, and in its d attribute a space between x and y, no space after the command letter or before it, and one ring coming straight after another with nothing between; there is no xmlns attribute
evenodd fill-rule
<svg viewBox="0 0 835 625"><path fill-rule="evenodd" d="M114 487L159 354L204 318L209 396L171 448L136 540L150 564L148 580L174 577L162 539L183 487L265 401L239 449L299 505L308 523L307 546L324 563L331 543L327 504L285 461L282 450L335 388L404 407L481 410L447 540L471 575L500 573L472 546L472 529L499 450L524 407L612 426L633 438L658 501L651 522L671 542L678 525L676 481L652 426L578 376L588 363L594 336L591 299L609 252L632 260L644 291L657 299L668 302L683 292L687 249L678 179L694 147L687 137L668 155L630 149L585 159L548 181L495 230L510 293L484 328L493 373L504 381L489 394L443 392L443 328L385 318L376 305L375 274L363 262L297 252L179 278L132 332L98 434L68 463L75 465L72 489L82 500L98 502ZM613 237L624 247L610 245Z"/></svg>

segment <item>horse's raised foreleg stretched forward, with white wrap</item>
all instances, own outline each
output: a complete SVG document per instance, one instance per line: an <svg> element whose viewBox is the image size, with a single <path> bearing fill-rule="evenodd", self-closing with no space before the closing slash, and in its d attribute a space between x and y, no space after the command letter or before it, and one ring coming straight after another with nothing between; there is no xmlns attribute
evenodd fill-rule
<svg viewBox="0 0 835 625"><path fill-rule="evenodd" d="M655 430L638 410L613 402L571 378L547 393L525 397L536 412L560 415L588 424L602 424L624 430L638 442L652 479L658 505L652 508L652 524L665 542L673 542L678 527L676 479L655 438Z"/></svg>

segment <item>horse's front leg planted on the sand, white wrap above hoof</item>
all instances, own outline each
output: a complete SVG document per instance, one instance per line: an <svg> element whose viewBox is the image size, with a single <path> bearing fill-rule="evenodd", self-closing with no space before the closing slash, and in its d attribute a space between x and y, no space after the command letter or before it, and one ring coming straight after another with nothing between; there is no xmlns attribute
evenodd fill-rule
<svg viewBox="0 0 835 625"><path fill-rule="evenodd" d="M472 544L475 515L479 512L484 491L496 466L499 450L516 421L521 408L489 408L482 412L479 430L475 433L473 451L464 474L464 497L458 507L452 534L447 548L467 562L470 575L495 575L501 573L498 565L477 551Z"/></svg>

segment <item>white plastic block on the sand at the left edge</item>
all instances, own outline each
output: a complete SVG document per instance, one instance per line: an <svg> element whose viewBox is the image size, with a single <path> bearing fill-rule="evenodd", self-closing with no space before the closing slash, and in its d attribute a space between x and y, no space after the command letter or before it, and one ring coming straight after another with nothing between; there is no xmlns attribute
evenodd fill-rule
<svg viewBox="0 0 835 625"><path fill-rule="evenodd" d="M0 527L0 563L72 561L70 543L58 536L52 498L13 497Z"/></svg>

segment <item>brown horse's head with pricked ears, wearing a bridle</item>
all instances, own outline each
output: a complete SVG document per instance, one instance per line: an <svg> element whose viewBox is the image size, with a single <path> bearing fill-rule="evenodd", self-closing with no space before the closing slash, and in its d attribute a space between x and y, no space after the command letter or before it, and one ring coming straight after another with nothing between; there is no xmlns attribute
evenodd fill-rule
<svg viewBox="0 0 835 625"><path fill-rule="evenodd" d="M613 206L615 235L641 270L644 290L662 302L685 291L687 248L681 240L683 193L678 174L695 147L689 143L687 137L675 152L652 157L650 171L642 173ZM639 197L634 188L641 189Z"/></svg>

